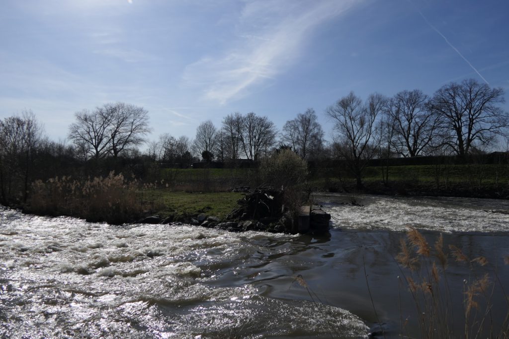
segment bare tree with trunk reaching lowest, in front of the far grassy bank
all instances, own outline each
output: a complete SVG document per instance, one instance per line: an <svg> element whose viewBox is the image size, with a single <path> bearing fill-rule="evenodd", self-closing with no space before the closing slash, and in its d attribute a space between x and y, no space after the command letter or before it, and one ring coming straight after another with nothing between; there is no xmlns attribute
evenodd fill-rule
<svg viewBox="0 0 509 339"><path fill-rule="evenodd" d="M362 188L366 160L372 159L377 150L376 122L384 105L385 98L379 94L372 94L363 104L350 92L326 110L335 121L334 128L338 132L337 151L354 174L358 189Z"/></svg>

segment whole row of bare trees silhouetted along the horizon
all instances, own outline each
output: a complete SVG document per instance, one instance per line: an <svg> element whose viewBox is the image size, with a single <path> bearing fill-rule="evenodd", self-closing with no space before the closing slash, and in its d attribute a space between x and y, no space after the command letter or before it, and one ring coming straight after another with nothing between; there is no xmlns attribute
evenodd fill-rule
<svg viewBox="0 0 509 339"><path fill-rule="evenodd" d="M474 79L448 83L431 97L414 89L362 100L351 92L325 111L334 126L330 142L312 108L288 120L280 131L267 116L235 112L224 116L219 127L211 120L202 122L194 139L166 133L149 141L147 110L107 103L75 113L69 142L48 140L28 111L0 120L0 193L3 203L13 195L26 200L34 178L100 163L123 170L118 164L133 159L181 167L198 161L258 162L281 148L308 161L342 160L361 187L370 159L436 154L462 158L495 146L497 137L507 139L509 119L500 107L503 102L502 88ZM144 152L139 150L142 145L147 145Z"/></svg>

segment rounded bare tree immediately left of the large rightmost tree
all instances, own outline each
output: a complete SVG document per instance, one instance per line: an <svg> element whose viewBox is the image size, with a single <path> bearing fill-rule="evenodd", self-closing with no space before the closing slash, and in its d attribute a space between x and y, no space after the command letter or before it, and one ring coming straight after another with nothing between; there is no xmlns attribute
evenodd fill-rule
<svg viewBox="0 0 509 339"><path fill-rule="evenodd" d="M386 113L394 122L392 145L404 157L423 153L435 136L437 120L421 90L403 90L387 101Z"/></svg>

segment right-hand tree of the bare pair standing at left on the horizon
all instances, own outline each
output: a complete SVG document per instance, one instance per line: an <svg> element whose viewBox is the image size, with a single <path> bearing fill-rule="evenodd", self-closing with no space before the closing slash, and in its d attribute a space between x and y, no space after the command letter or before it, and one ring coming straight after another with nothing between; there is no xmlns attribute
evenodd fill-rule
<svg viewBox="0 0 509 339"><path fill-rule="evenodd" d="M149 113L143 107L117 102L100 107L101 115L108 117L109 152L117 158L123 150L146 141L149 128Z"/></svg>

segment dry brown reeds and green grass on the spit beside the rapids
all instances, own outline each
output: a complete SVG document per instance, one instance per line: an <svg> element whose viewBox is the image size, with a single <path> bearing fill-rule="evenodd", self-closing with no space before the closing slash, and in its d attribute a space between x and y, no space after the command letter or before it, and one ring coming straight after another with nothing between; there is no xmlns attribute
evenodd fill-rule
<svg viewBox="0 0 509 339"><path fill-rule="evenodd" d="M186 221L199 213L223 219L242 198L240 193L192 193L166 186L164 180L142 184L114 173L87 180L55 177L33 183L30 199L17 207L35 214L123 224L153 214L172 217L175 221Z"/></svg>

